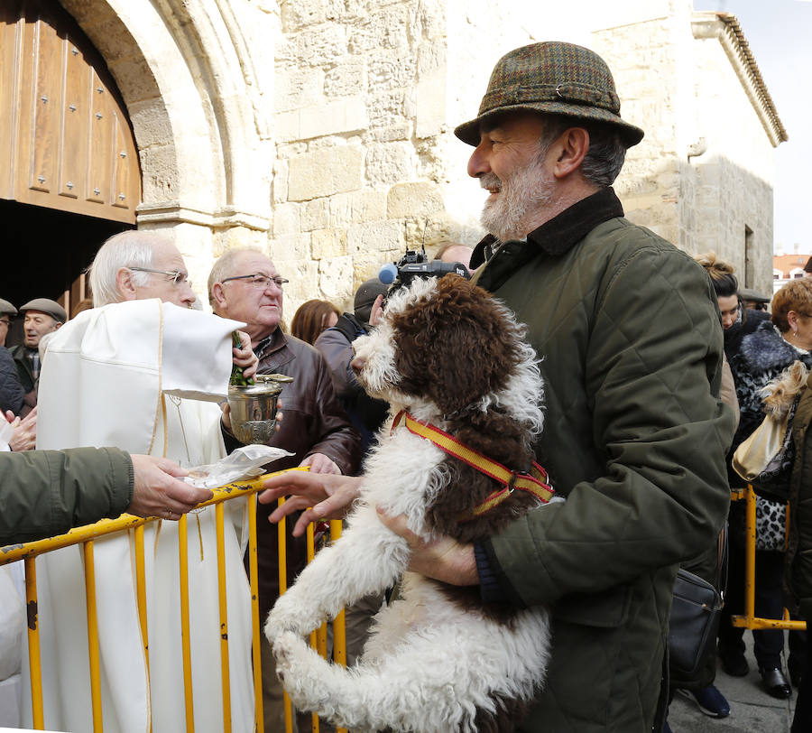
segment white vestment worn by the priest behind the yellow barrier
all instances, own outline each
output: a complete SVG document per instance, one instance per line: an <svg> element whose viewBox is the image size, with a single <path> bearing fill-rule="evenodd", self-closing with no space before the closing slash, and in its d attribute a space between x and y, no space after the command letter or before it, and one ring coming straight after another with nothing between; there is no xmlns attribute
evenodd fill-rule
<svg viewBox="0 0 812 733"><path fill-rule="evenodd" d="M220 409L212 400L225 397L231 333L242 325L158 300L80 313L54 334L43 360L37 448L113 445L166 456L185 467L216 462L225 447ZM243 565L245 506L245 499L225 505L235 732L254 729L250 589ZM215 507L189 514L188 521L194 728L219 733L224 726ZM144 531L149 675L136 605L133 534L97 540L94 548L104 729L148 733L152 722L154 733L180 733L187 725L178 524L152 522ZM41 556L37 580L45 728L90 731L80 547ZM30 725L30 706L23 703L23 712L26 708L23 722Z"/></svg>

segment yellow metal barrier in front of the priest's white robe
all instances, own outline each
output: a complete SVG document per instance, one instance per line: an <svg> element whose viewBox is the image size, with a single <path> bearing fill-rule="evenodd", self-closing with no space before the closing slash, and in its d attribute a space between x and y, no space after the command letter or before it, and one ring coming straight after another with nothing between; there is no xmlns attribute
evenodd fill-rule
<svg viewBox="0 0 812 733"><path fill-rule="evenodd" d="M295 469L294 469L295 470ZM280 471L279 473L282 473ZM228 618L226 614L226 561L225 561L225 525L223 504L229 499L239 496L253 496L263 488L263 480L275 474L266 474L251 481L238 481L226 487L214 489L214 497L208 502L198 505L215 506L215 520L217 523L217 581L220 613L220 672L223 691L223 730L231 731L231 691L228 672ZM280 499L283 503L284 499ZM183 515L178 521L180 545L180 619L181 619L181 654L183 659L183 684L185 690L185 708L187 720L187 733L194 731L194 712L192 706L191 682L191 651L189 646L189 565L187 545L188 515ZM141 635L143 640L144 658L149 671L149 635L146 617L146 582L144 574L143 554L143 527L159 518L141 518L133 515L121 515L118 519L103 519L97 524L72 529L67 534L40 540L38 542L8 545L0 550L0 565L22 560L25 568L25 605L28 614L28 649L31 668L32 692L32 720L33 727L44 730L44 713L42 703L42 666L40 662L40 636L39 619L37 616L37 576L35 560L38 555L53 550L59 550L70 545L81 544L85 565L85 588L88 612L88 663L90 669L90 699L93 711L94 733L102 733L102 702L99 675L98 653L98 625L96 610L96 575L93 563L93 542L98 537L119 532L134 531L135 545L135 587L138 603L138 615L141 622ZM279 569L280 592L286 589L286 563L285 563L285 520L279 524ZM263 686L262 664L260 662L260 642L262 629L259 617L259 591L257 581L257 545L256 545L256 502L248 502L248 575L251 585L251 612L252 612L252 658L254 662L254 723L255 730L263 733ZM341 534L341 522L330 523L332 539ZM312 560L314 550L312 524L308 528L308 561ZM32 610L33 609L33 610ZM337 662L346 663L346 644L344 629L344 612L333 621L334 658ZM318 648L322 655L327 654L327 626L314 632L311 643ZM285 730L291 733L293 710L291 701L285 693ZM318 733L318 717L313 715L312 730ZM344 729L338 728L338 733ZM344 732L346 733L346 731Z"/></svg>

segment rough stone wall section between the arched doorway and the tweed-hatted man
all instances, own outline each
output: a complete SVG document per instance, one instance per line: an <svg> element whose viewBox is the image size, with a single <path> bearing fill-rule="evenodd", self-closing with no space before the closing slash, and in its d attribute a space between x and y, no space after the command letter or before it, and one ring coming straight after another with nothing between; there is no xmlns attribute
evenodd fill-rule
<svg viewBox="0 0 812 733"><path fill-rule="evenodd" d="M308 298L346 305L407 243L449 236L445 30L441 3L282 5L269 246L291 279L289 317Z"/></svg>

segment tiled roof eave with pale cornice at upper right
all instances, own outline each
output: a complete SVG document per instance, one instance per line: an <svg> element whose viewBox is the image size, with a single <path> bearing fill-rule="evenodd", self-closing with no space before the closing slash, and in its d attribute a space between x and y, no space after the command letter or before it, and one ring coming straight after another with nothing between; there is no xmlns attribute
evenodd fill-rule
<svg viewBox="0 0 812 733"><path fill-rule="evenodd" d="M691 28L694 38L717 38L722 44L772 146L778 147L789 140L736 16L714 11L696 12L691 17Z"/></svg>

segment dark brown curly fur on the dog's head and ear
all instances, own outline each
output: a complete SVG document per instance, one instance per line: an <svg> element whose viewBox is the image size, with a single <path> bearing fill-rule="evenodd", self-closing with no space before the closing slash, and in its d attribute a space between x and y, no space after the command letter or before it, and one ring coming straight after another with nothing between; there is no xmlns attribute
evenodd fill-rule
<svg viewBox="0 0 812 733"><path fill-rule="evenodd" d="M393 323L401 388L453 413L505 385L517 350L515 327L490 296L457 275Z"/></svg>

